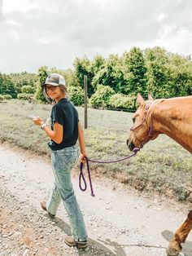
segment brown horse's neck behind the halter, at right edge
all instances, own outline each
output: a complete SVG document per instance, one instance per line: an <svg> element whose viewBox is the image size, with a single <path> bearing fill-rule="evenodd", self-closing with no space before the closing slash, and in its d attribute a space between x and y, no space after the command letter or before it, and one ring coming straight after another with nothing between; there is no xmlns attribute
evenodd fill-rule
<svg viewBox="0 0 192 256"><path fill-rule="evenodd" d="M168 135L192 153L192 96L157 101L154 130Z"/></svg>

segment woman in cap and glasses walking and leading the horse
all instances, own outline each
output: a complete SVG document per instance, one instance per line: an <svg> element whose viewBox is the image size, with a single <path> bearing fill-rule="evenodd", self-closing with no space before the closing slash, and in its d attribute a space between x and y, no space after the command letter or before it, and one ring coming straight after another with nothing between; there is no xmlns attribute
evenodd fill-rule
<svg viewBox="0 0 192 256"><path fill-rule="evenodd" d="M46 77L42 84L46 99L54 103L50 115L50 127L42 121L41 117L33 118L37 126L50 137L48 143L51 151L51 162L55 175L55 183L47 202L41 202L41 208L46 210L51 217L55 217L59 203L62 200L68 213L72 227L72 236L65 237L69 246L85 248L88 236L81 210L76 201L72 188L71 170L78 159L76 141L80 145L80 161L87 157L85 139L78 113L72 102L68 99L68 90L64 78L58 73Z"/></svg>

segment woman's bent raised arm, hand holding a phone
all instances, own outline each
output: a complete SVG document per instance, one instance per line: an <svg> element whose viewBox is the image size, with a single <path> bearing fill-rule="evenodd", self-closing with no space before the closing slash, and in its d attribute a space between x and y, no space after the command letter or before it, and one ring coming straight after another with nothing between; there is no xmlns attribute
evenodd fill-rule
<svg viewBox="0 0 192 256"><path fill-rule="evenodd" d="M42 121L41 117L33 118L33 122L37 126L41 126L45 122ZM46 134L50 137L50 139L54 140L55 143L61 143L63 140L63 126L55 121L54 130L51 130L49 126L44 126L43 130L46 131Z"/></svg>

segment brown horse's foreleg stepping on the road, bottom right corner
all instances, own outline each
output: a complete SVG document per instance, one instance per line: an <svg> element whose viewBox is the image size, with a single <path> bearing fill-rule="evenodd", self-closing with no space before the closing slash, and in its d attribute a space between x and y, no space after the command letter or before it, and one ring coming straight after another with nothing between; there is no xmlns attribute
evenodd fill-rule
<svg viewBox="0 0 192 256"><path fill-rule="evenodd" d="M192 229L192 210L187 215L187 218L181 227L177 229L177 232L172 237L167 249L168 256L176 256L181 252L181 243L185 243L186 237L189 235Z"/></svg>

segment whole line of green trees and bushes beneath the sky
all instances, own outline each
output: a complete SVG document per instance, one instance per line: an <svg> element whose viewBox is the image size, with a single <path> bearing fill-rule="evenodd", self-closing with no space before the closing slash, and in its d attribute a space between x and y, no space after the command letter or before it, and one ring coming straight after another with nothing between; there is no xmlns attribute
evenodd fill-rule
<svg viewBox="0 0 192 256"><path fill-rule="evenodd" d="M89 104L94 108L134 109L137 93L146 97L171 98L192 94L192 62L190 56L173 54L156 46L141 50L133 47L123 55L96 55L76 58L73 70L46 66L37 74L0 73L0 95L26 99L29 94L45 102L41 83L50 73L65 77L70 99L84 104L84 75L88 77Z"/></svg>

